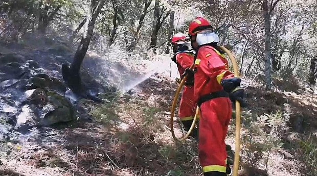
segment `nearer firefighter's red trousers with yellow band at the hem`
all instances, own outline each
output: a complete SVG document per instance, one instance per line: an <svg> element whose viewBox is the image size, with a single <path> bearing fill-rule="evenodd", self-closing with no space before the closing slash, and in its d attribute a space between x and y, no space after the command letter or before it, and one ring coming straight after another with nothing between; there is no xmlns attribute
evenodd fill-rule
<svg viewBox="0 0 317 176"><path fill-rule="evenodd" d="M200 106L199 161L203 172L225 172L227 150L224 139L232 116L231 100L227 97L211 99Z"/></svg>

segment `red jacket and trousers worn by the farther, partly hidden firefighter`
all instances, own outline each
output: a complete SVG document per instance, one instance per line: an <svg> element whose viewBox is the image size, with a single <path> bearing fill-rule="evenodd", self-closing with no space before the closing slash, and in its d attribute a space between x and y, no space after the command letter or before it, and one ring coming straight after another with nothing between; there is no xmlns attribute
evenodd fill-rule
<svg viewBox="0 0 317 176"><path fill-rule="evenodd" d="M189 68L193 65L194 56L189 53L176 54L176 63L178 72L181 77L180 79L183 79L182 74L184 74L186 68ZM194 87L185 86L182 94L182 99L180 99L178 111L178 116L180 120L186 121L194 119L196 107L197 105L194 103Z"/></svg>

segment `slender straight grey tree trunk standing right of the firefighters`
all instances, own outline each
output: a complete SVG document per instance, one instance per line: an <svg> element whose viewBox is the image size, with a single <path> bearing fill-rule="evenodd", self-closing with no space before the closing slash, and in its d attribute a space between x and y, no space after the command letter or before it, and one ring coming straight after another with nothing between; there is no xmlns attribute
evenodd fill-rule
<svg viewBox="0 0 317 176"><path fill-rule="evenodd" d="M270 31L270 13L267 6L267 1L262 2L262 10L265 25L265 52L264 52L264 74L265 74L265 88L271 89L271 31Z"/></svg>

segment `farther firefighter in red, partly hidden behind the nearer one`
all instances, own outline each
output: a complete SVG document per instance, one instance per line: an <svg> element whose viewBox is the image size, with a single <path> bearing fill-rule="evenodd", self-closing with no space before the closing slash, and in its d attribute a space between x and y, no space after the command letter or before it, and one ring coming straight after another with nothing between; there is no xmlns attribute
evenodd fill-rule
<svg viewBox="0 0 317 176"><path fill-rule="evenodd" d="M182 33L177 33L172 37L172 47L174 56L172 61L177 64L180 79L184 79L186 69L189 69L194 64L195 51L190 48L190 43L187 42L187 37ZM178 116L184 125L185 131L189 131L193 122L197 104L194 103L194 74L187 76L185 87L180 99ZM198 134L195 128L191 136L196 137Z"/></svg>

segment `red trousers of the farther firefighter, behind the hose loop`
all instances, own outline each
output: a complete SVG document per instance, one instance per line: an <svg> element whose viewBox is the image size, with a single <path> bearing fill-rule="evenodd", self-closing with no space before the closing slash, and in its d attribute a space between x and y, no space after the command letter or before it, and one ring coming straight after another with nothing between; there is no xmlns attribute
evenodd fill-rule
<svg viewBox="0 0 317 176"><path fill-rule="evenodd" d="M181 121L192 120L196 114L197 105L194 103L194 88L193 86L185 86L182 99L178 110L178 116Z"/></svg>

